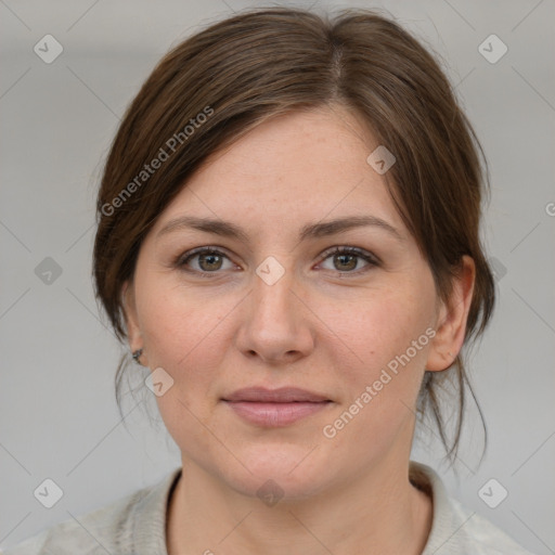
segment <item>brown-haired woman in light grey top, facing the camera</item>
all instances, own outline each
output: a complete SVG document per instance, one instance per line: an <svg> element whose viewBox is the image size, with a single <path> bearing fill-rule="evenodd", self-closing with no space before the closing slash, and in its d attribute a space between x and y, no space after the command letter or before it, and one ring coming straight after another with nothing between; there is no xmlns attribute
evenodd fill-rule
<svg viewBox="0 0 555 555"><path fill-rule="evenodd" d="M94 278L182 468L9 553L528 553L410 461L425 410L456 456L493 309L479 152L372 12L251 11L169 52L107 158Z"/></svg>

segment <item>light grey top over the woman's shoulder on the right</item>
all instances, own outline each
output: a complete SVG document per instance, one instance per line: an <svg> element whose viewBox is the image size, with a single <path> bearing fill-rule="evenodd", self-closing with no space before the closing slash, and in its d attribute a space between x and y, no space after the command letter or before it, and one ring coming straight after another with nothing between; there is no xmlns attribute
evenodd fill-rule
<svg viewBox="0 0 555 555"><path fill-rule="evenodd" d="M434 517L422 555L533 555L482 515L448 494L439 475L411 461L411 481L433 496Z"/></svg>

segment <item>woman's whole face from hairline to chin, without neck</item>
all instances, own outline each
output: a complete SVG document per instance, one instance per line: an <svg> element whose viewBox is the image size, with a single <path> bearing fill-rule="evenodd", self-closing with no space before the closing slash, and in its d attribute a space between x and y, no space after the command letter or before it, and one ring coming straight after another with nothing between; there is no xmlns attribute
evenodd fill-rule
<svg viewBox="0 0 555 555"><path fill-rule="evenodd" d="M145 238L130 344L163 369L184 465L295 498L408 463L424 369L459 346L436 336L443 305L366 162L377 146L344 111L274 118L212 157ZM235 395L251 387L270 397Z"/></svg>

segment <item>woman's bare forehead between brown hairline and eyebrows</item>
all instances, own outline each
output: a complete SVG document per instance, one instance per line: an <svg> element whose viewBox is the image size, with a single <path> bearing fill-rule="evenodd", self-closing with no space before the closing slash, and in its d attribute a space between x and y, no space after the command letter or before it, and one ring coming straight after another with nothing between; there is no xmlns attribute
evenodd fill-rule
<svg viewBox="0 0 555 555"><path fill-rule="evenodd" d="M261 232L367 214L403 229L384 176L366 162L377 146L340 107L274 117L205 160L155 230L182 214L250 223Z"/></svg>

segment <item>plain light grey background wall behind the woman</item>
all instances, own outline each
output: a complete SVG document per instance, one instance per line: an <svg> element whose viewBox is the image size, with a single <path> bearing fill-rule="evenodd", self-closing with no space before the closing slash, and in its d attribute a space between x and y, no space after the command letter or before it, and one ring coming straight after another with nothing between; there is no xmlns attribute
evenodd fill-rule
<svg viewBox="0 0 555 555"><path fill-rule="evenodd" d="M151 406L157 416L152 398L138 404L128 396L125 423L116 409L120 348L101 323L90 279L94 195L119 118L159 57L255 4L0 0L0 545L180 464L172 440L145 415ZM529 550L555 553L555 4L321 0L315 8L347 5L387 9L446 60L491 166L485 238L500 269L500 302L473 363L490 450L477 468L481 434L470 404L457 476L440 465L429 431L413 459ZM33 50L47 34L64 48L52 64ZM508 47L495 64L478 51L491 34ZM46 257L62 268L50 285L35 273ZM50 509L33 494L46 478L64 492ZM494 509L478 495L490 478L508 491Z"/></svg>

